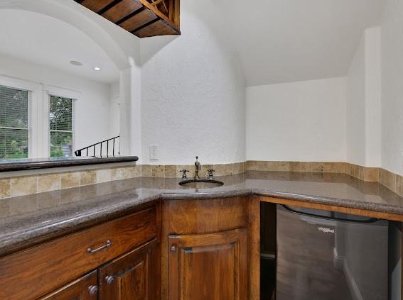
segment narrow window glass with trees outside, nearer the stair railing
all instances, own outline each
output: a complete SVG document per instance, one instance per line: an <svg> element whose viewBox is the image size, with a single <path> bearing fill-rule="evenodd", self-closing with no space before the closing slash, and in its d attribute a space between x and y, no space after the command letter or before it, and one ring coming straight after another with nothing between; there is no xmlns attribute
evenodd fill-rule
<svg viewBox="0 0 403 300"><path fill-rule="evenodd" d="M50 95L50 157L72 157L73 100Z"/></svg>

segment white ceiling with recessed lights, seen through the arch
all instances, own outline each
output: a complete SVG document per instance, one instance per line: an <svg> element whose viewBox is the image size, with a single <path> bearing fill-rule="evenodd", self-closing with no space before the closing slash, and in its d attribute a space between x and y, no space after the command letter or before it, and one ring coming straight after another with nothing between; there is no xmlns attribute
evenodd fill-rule
<svg viewBox="0 0 403 300"><path fill-rule="evenodd" d="M98 82L119 79L117 67L102 48L68 23L30 11L0 10L0 28L0 54ZM83 65L70 65L71 60ZM92 70L95 66L102 71Z"/></svg>

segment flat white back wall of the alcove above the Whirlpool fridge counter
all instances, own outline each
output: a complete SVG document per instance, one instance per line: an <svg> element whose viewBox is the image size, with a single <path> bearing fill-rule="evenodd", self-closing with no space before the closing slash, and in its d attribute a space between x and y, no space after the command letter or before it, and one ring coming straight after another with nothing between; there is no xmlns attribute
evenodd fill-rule
<svg viewBox="0 0 403 300"><path fill-rule="evenodd" d="M247 87L247 160L344 161L345 78Z"/></svg>

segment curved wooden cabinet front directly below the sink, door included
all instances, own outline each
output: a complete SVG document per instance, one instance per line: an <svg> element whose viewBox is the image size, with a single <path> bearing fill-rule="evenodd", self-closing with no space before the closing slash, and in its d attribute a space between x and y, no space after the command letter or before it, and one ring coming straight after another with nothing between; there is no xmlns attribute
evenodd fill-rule
<svg viewBox="0 0 403 300"><path fill-rule="evenodd" d="M163 300L248 299L248 200L163 201Z"/></svg>

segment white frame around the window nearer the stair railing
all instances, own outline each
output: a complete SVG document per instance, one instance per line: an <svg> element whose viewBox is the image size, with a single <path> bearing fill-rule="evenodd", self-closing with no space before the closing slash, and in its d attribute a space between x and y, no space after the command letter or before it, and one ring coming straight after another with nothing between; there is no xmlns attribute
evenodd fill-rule
<svg viewBox="0 0 403 300"><path fill-rule="evenodd" d="M44 135L43 145L46 145L46 149L43 149L43 152L46 153L46 157L50 157L50 123L49 123L49 101L50 96L58 96L63 98L72 99L72 156L74 156L74 149L75 149L75 140L76 140L76 124L75 124L75 108L76 102L80 99L80 92L74 91L72 89L65 89L63 87L55 87L51 85L45 85L43 87L43 99L45 99L44 104L45 107L43 111L45 111L46 116L42 118L43 120L43 127L46 128L46 134Z"/></svg>

